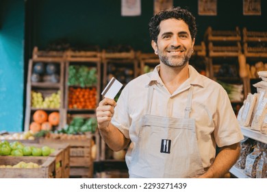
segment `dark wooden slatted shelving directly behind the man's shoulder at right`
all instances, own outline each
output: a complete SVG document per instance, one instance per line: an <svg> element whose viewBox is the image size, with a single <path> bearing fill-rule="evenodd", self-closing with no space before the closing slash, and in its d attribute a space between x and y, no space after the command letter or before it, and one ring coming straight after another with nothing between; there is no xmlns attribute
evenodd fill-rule
<svg viewBox="0 0 267 192"><path fill-rule="evenodd" d="M208 47L209 77L229 84L242 84L243 98L248 94L247 80L239 75L238 56L242 53L240 29L216 31L208 27L205 32ZM241 96L241 95L240 95ZM231 101L233 108L242 105L244 99ZM236 111L237 113L238 111Z"/></svg>

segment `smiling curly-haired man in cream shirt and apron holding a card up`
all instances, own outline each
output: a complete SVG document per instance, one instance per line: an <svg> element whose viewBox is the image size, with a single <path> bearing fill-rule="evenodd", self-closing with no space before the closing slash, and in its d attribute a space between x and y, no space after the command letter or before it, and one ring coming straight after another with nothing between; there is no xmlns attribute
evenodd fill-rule
<svg viewBox="0 0 267 192"><path fill-rule="evenodd" d="M149 31L160 64L129 82L117 104L99 103L101 136L114 151L131 142L130 178L221 178L243 136L226 91L189 65L194 16L171 8L153 16Z"/></svg>

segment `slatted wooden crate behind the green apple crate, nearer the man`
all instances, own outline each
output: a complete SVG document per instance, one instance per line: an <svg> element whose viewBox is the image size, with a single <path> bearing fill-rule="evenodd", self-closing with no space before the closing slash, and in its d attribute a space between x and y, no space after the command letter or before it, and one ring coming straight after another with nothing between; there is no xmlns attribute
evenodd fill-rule
<svg viewBox="0 0 267 192"><path fill-rule="evenodd" d="M71 178L92 178L92 156L91 156L90 136L84 139L40 139L40 143L59 144L68 143L70 145L70 177Z"/></svg>

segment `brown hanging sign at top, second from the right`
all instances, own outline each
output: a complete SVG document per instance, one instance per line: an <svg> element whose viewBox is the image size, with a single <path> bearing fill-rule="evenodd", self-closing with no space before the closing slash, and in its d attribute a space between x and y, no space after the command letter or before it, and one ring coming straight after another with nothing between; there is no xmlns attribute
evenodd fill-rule
<svg viewBox="0 0 267 192"><path fill-rule="evenodd" d="M199 0L199 15L217 15L217 0Z"/></svg>

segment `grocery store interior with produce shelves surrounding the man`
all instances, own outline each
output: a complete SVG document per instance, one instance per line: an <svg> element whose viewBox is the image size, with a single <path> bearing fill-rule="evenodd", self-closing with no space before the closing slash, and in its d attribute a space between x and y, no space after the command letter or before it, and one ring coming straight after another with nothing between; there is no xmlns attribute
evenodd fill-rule
<svg viewBox="0 0 267 192"><path fill-rule="evenodd" d="M112 77L125 86L159 64L148 23L170 5L195 16L190 64L225 88L245 136L227 177L266 178L267 1L137 0L128 10L127 2L0 0L0 140L35 152L9 159L0 150L0 178L129 177L127 149L107 147L96 108ZM44 145L49 154L36 158ZM24 158L36 171L5 168Z"/></svg>

